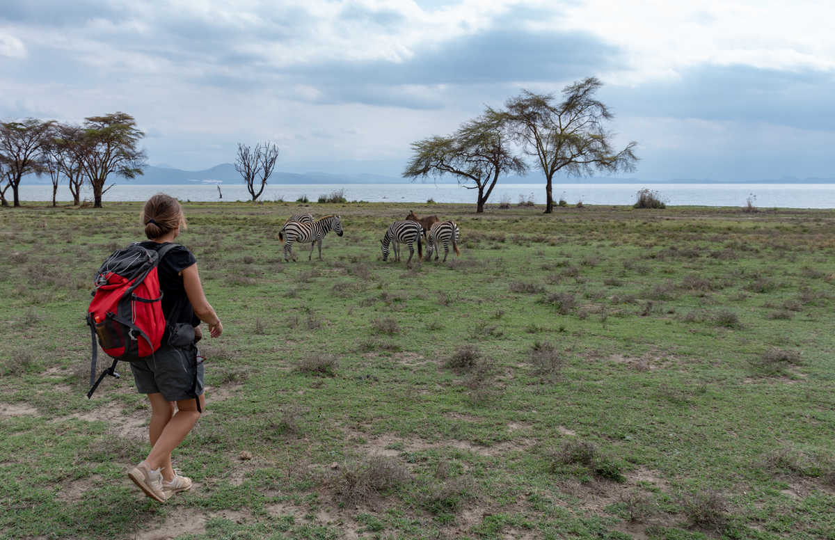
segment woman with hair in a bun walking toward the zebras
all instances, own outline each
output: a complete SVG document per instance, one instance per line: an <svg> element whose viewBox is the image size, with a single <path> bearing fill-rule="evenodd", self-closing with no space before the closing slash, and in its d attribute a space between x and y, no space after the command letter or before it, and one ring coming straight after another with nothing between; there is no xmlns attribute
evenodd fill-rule
<svg viewBox="0 0 835 540"><path fill-rule="evenodd" d="M149 240L141 243L159 250L185 230L185 214L177 199L155 194L144 205L142 223ZM157 266L163 292L165 334L162 346L146 362L131 362L136 389L148 394L151 452L128 476L158 502L190 489L191 480L171 467L171 451L189 434L203 410L203 364L197 358L200 321L210 335L223 332L220 319L203 294L195 255L182 245L168 251ZM175 411L176 404L176 411Z"/></svg>

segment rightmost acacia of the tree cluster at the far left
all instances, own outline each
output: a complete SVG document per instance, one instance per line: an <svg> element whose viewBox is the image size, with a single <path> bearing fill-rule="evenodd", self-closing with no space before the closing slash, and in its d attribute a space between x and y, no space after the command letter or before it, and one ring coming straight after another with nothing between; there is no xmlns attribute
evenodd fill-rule
<svg viewBox="0 0 835 540"><path fill-rule="evenodd" d="M144 133L137 129L134 117L111 113L84 119L81 170L93 186L94 208L101 208L102 195L110 174L133 179L142 174L144 150L137 148Z"/></svg>

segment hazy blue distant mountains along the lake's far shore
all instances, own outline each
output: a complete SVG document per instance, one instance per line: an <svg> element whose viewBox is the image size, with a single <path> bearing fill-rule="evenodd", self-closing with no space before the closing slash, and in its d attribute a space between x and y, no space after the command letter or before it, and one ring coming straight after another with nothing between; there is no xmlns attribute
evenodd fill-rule
<svg viewBox="0 0 835 540"><path fill-rule="evenodd" d="M529 174L528 176L514 176L502 179L509 184L539 184L544 182L541 174ZM162 167L149 165L145 167L144 174L133 180L125 180L119 176L113 176L112 182L119 184L126 181L134 184L243 184L243 179L235 170L235 165L222 163L210 169L204 170L183 170L173 167ZM421 180L418 180L421 181ZM426 182L434 182L435 179L426 179ZM759 179L759 180L732 180L732 179L669 179L669 180L645 180L635 178L564 178L554 179L558 184L835 184L835 178L787 178L782 179ZM48 175L31 177L28 182L33 184L49 184ZM382 174L334 174L334 173L285 173L275 171L269 184L408 184L409 179L399 176L384 176ZM438 184L455 184L456 179L447 175L437 180Z"/></svg>

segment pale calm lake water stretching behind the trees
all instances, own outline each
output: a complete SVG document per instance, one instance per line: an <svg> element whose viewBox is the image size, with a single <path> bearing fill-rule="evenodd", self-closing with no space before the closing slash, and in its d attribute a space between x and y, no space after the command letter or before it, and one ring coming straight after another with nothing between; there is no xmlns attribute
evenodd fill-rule
<svg viewBox="0 0 835 540"><path fill-rule="evenodd" d="M746 199L761 208L835 208L835 184L556 184L554 199L563 198L569 204L582 200L584 204L633 204L639 189L648 188L658 193L666 204L694 204L704 206L743 206ZM52 186L21 184L21 199L52 200ZM345 190L348 200L369 202L425 203L433 199L437 203L473 203L476 193L457 184L268 184L261 200L295 201L307 195L316 202L322 194L337 189ZM250 194L243 184L221 185L224 201L249 200ZM119 182L104 194L108 200L145 200L162 191L181 200L216 201L215 184L143 185ZM92 199L89 189L83 198ZM11 192L7 193L11 198ZM72 197L66 185L58 189L58 200ZM544 204L544 184L497 184L488 201L498 204L503 199L516 204L519 199L532 199Z"/></svg>

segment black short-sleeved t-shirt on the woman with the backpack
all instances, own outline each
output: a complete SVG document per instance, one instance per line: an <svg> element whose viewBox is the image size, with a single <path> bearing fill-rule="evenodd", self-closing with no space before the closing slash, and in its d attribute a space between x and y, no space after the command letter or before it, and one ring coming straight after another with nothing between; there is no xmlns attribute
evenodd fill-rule
<svg viewBox="0 0 835 540"><path fill-rule="evenodd" d="M139 243L144 248L157 251L166 244L169 244L169 242L158 244L153 240L145 240ZM195 255L185 245L178 245L171 248L157 265L159 287L162 289L162 312L165 315L166 325L176 323L189 323L191 326L200 325L200 319L195 315L189 297L185 294L183 276L180 275L181 271L196 262ZM167 330L165 334L168 334Z"/></svg>

